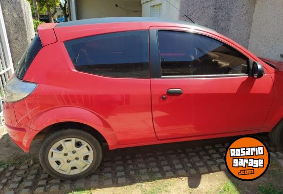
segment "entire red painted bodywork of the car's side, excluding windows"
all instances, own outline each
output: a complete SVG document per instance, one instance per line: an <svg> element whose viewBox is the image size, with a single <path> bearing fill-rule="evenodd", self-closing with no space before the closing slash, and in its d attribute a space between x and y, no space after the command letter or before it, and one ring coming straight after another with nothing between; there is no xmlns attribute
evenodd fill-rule
<svg viewBox="0 0 283 194"><path fill-rule="evenodd" d="M24 76L25 81L36 82L38 87L23 100L5 103L9 134L26 152L39 131L58 122L89 125L105 137L110 149L116 149L270 131L283 116L283 72L213 31L159 22L53 27L39 27L45 46ZM102 77L76 71L63 43L90 35L150 28L194 31L216 38L259 61L265 75L260 79ZM184 93L167 96L169 88L182 88ZM166 100L161 99L162 95L167 96Z"/></svg>

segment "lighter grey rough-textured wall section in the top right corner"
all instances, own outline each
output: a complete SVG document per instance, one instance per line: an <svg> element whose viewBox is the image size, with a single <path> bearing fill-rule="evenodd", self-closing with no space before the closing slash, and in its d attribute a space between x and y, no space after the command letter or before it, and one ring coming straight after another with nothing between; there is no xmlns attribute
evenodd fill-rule
<svg viewBox="0 0 283 194"><path fill-rule="evenodd" d="M283 61L283 1L255 4L248 49L258 56Z"/></svg>

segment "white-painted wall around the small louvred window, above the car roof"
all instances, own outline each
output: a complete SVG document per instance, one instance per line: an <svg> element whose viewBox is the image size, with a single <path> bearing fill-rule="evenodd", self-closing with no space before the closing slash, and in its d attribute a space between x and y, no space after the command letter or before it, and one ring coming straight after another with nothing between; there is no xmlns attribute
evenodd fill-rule
<svg viewBox="0 0 283 194"><path fill-rule="evenodd" d="M170 3L175 6L177 9L180 8L181 0L170 0ZM168 18L168 19L179 19L179 11L168 4L168 2L164 0L142 0L142 16L143 17L150 17L150 6L162 4L162 13L161 18Z"/></svg>

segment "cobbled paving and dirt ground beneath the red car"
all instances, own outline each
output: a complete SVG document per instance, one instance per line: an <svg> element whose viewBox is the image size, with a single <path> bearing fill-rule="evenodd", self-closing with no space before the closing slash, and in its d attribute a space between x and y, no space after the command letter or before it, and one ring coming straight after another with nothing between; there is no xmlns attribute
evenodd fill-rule
<svg viewBox="0 0 283 194"><path fill-rule="evenodd" d="M67 193L76 189L95 189L99 193L138 191L147 193L144 189L146 190L154 181L165 181L165 183L171 181L175 185L177 182L175 183L174 180L183 180L177 184L182 184L178 185L178 188L184 187L184 193L187 191L193 193L194 189L197 191L195 193L199 193L203 191L199 190L200 187L208 189L206 187L211 186L213 181L223 183L231 179L225 171L224 154L225 147L235 137L113 151L104 148L104 158L92 175L82 180L63 181L50 177L42 170L37 159L40 141L32 144L30 155L23 154L21 150L9 143L5 128L1 128L0 132L0 193ZM257 136L268 146L272 161L278 161L280 165L283 161L283 152L269 142L266 134ZM281 165L283 168L283 162ZM273 174L264 175L261 179L266 181L269 179L267 176L274 177ZM219 180L214 180L215 178ZM277 179L274 181L276 183ZM278 181L281 181L281 178L278 178ZM159 182L156 184L161 184ZM142 185L137 188L135 185L139 184ZM171 190L167 191L174 193L175 187L170 188ZM213 189L215 188L211 187L209 190ZM249 193L249 190L247 186L245 193ZM153 193L159 193L159 191L162 191L162 188L158 188L158 191ZM253 190L251 191L254 193Z"/></svg>

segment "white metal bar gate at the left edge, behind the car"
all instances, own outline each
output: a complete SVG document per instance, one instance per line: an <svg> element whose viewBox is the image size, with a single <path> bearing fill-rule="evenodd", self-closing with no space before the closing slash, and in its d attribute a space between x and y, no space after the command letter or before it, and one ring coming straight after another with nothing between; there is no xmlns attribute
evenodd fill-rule
<svg viewBox="0 0 283 194"><path fill-rule="evenodd" d="M0 4L0 36L1 36L1 44L0 44L0 124L3 124L3 103L5 101L4 96L4 88L6 83L8 82L10 76L14 72L9 42L6 33L6 27L4 23L4 18L2 14L2 8Z"/></svg>

